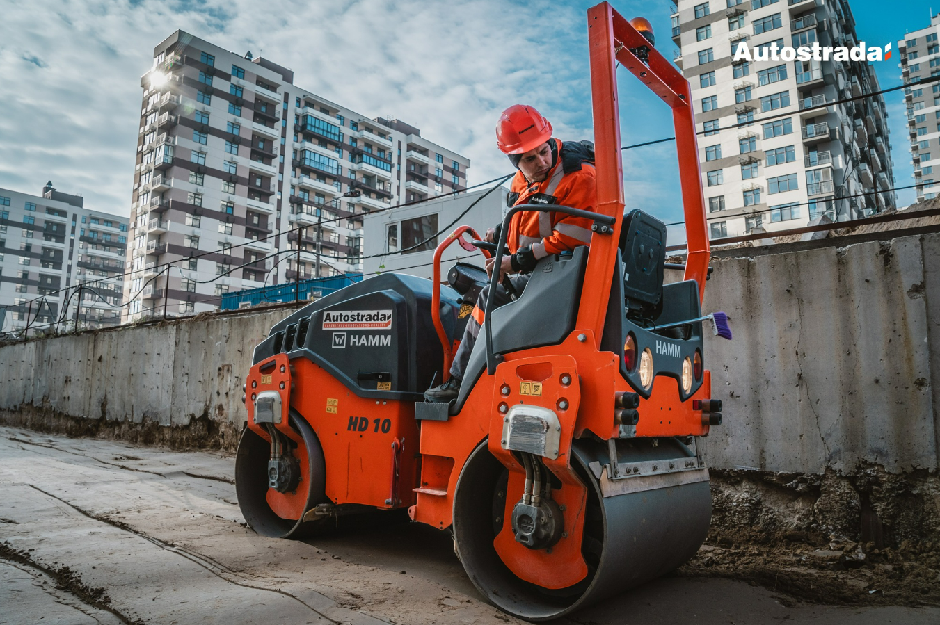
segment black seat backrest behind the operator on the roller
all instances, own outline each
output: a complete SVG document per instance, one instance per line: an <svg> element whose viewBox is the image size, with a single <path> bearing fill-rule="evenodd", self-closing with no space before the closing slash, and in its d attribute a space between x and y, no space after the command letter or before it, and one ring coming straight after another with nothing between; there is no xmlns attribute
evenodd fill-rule
<svg viewBox="0 0 940 625"><path fill-rule="evenodd" d="M626 213L620 227L620 255L628 314L658 317L663 308L666 224L639 209Z"/></svg>

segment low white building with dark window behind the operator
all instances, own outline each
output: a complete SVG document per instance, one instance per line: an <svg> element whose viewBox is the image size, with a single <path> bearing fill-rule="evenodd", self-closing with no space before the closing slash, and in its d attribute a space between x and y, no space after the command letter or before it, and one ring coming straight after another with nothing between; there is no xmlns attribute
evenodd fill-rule
<svg viewBox="0 0 940 625"><path fill-rule="evenodd" d="M483 188L366 215L363 218L366 242L363 277L395 272L430 278L437 244L464 225L473 227L480 237L485 236L487 228L502 221L508 208L508 194L504 186L494 191ZM435 232L442 232L442 235L427 241ZM464 236L465 240L469 238L469 235ZM459 242L453 242L441 256L442 280L447 279L447 270L458 260L480 267L484 264L477 249L465 250Z"/></svg>

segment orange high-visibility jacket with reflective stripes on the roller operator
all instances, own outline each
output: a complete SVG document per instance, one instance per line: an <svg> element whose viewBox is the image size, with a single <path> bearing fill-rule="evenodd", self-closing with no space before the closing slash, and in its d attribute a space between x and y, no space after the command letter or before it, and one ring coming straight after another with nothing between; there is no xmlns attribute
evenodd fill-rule
<svg viewBox="0 0 940 625"><path fill-rule="evenodd" d="M516 172L509 193L510 206L540 203L595 210L594 165L583 160L587 155L584 145L573 143L566 149L561 141L556 142L556 164L545 180L529 184L521 171ZM591 224L590 219L561 212L523 211L512 216L506 241L512 254L529 247L539 260L590 243Z"/></svg>

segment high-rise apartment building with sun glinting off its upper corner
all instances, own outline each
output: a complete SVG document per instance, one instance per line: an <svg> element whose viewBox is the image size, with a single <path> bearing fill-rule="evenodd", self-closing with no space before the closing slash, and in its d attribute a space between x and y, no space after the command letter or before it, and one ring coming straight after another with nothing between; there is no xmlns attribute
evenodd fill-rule
<svg viewBox="0 0 940 625"><path fill-rule="evenodd" d="M141 86L129 319L361 272L364 213L467 186L469 160L414 126L182 31L156 46Z"/></svg>

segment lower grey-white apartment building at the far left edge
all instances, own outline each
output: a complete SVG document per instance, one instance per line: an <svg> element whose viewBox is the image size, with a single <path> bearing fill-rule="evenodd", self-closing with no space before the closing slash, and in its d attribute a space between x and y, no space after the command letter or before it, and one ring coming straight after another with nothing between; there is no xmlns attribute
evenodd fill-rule
<svg viewBox="0 0 940 625"><path fill-rule="evenodd" d="M0 332L120 323L129 222L84 205L51 181L0 189Z"/></svg>

